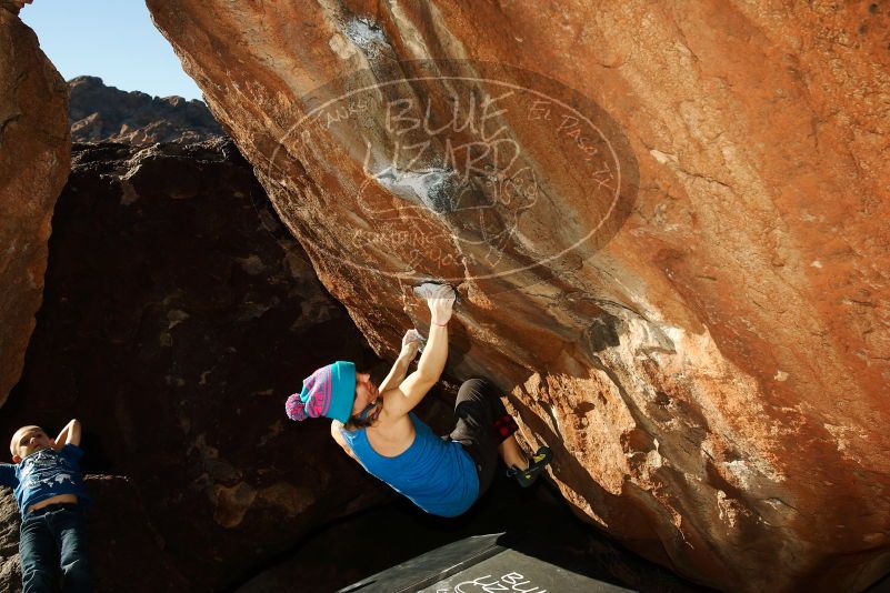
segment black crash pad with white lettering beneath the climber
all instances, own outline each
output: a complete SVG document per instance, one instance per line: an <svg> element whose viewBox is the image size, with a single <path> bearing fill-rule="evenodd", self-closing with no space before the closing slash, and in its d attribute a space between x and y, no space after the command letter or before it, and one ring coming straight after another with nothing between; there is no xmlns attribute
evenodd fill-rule
<svg viewBox="0 0 890 593"><path fill-rule="evenodd" d="M619 593L528 536L476 535L379 572L338 593Z"/></svg>

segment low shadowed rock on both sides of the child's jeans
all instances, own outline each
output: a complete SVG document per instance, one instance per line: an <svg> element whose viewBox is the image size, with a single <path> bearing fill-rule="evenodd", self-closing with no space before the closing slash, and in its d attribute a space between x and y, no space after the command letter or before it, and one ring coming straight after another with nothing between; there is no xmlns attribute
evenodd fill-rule
<svg viewBox="0 0 890 593"><path fill-rule="evenodd" d="M151 526L132 481L120 475L90 475L86 488L101 503L101 510L89 512L87 523L96 591L187 591L188 582L164 552L163 540ZM0 496L0 589L7 593L22 589L19 522L16 500Z"/></svg>

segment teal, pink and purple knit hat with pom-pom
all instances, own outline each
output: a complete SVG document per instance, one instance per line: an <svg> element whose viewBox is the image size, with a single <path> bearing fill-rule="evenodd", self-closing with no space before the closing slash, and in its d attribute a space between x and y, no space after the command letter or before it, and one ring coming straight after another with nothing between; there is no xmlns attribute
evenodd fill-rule
<svg viewBox="0 0 890 593"><path fill-rule="evenodd" d="M356 365L339 360L303 379L303 390L288 398L284 411L291 420L326 416L346 423L356 400Z"/></svg>

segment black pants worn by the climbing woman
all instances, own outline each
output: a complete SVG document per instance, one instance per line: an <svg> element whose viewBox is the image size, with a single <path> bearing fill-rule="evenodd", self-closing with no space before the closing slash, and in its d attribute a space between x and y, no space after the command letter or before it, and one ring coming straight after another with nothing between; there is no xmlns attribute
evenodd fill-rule
<svg viewBox="0 0 890 593"><path fill-rule="evenodd" d="M458 422L449 439L463 445L476 462L481 496L498 469L498 445L516 432L516 423L501 403L497 388L481 378L468 379L460 385L454 418Z"/></svg>

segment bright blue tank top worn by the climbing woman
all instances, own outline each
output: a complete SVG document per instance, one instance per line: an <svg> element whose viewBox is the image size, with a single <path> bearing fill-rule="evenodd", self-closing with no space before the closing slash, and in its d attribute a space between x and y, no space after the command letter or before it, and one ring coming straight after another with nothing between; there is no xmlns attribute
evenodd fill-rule
<svg viewBox="0 0 890 593"><path fill-rule="evenodd" d="M476 464L460 443L443 441L413 412L414 442L394 458L378 453L364 429L340 429L352 453L371 475L408 496L430 514L457 516L479 495Z"/></svg>

